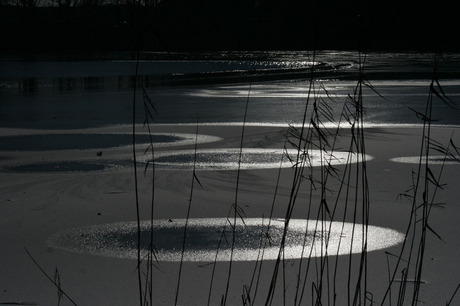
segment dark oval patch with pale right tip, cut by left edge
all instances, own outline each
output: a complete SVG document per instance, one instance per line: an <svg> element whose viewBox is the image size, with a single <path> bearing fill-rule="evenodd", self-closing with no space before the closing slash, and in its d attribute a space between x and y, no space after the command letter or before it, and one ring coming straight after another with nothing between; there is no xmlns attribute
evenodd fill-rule
<svg viewBox="0 0 460 306"><path fill-rule="evenodd" d="M212 142L221 138L209 135L194 134L166 134L154 133L137 134L136 143L155 144L155 147L171 145L187 145L195 143ZM0 137L0 151L46 151L46 150L87 150L95 148L111 148L132 145L131 134L111 133L64 133L64 134L36 134Z"/></svg>

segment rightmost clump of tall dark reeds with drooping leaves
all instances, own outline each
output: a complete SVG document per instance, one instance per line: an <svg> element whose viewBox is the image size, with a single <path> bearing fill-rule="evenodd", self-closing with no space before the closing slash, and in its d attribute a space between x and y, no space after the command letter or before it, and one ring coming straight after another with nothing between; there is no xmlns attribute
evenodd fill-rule
<svg viewBox="0 0 460 306"><path fill-rule="evenodd" d="M415 111L416 116L423 121L422 140L420 146L420 157L418 163L418 170L414 172L412 188L408 191L411 195L407 196L412 201L412 210L409 218L409 223L406 229L406 235L401 247L400 255L394 267L390 285L386 290L382 303L387 299L391 284L402 262L406 266L403 268L403 279L400 285L399 295L397 299L398 305L401 305L406 300L406 282L409 273L414 274L414 285L412 288L411 300L413 305L418 304L420 294L420 284L423 283L421 276L424 267L425 248L428 239L428 233L434 234L438 239L442 239L441 235L430 225L429 217L433 207L439 207L439 203L435 202L435 196L439 190L444 188L441 184L440 178L444 164L447 157L455 157L455 146L453 145L452 138L448 146L443 146L439 142L432 139L431 136L431 123L434 122L432 118L432 110L434 105L434 98L439 99L445 104L449 104L442 87L437 79L437 63L438 55L435 54L433 77L430 84L430 92L427 97L425 111ZM435 86L436 84L436 86ZM452 143L452 152L450 144ZM431 152L436 151L444 155L444 162L441 165L439 174L435 175L433 169L430 167ZM409 241L410 240L410 241ZM407 244L409 242L409 244ZM403 254L406 254L407 259L403 260ZM415 258L414 258L415 257ZM391 302L391 301L390 301Z"/></svg>

